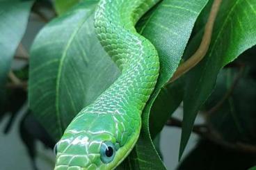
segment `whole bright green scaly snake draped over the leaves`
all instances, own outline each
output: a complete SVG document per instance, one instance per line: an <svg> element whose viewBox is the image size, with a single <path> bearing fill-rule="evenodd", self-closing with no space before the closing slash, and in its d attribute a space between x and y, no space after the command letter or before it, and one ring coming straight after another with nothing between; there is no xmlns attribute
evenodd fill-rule
<svg viewBox="0 0 256 170"><path fill-rule="evenodd" d="M115 169L136 144L143 108L159 76L159 57L134 25L158 1L99 1L95 32L122 73L67 127L55 147L55 170Z"/></svg>

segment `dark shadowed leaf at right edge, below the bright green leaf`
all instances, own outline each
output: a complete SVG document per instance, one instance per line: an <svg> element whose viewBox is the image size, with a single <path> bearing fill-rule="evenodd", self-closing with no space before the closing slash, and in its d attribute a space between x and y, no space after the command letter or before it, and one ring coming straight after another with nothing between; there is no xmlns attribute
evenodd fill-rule
<svg viewBox="0 0 256 170"><path fill-rule="evenodd" d="M243 74L241 69L223 69L216 89L205 103L205 110L211 110L232 88L232 94L214 112L207 114L211 127L228 142L256 144L256 81L249 73L247 68Z"/></svg>

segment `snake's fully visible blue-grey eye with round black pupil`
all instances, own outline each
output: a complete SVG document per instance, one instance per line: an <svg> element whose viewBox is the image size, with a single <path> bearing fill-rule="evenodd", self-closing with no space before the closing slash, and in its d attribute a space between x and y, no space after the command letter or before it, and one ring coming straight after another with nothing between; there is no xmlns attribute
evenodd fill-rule
<svg viewBox="0 0 256 170"><path fill-rule="evenodd" d="M111 162L115 157L115 146L112 142L103 142L100 146L100 159L105 164Z"/></svg>

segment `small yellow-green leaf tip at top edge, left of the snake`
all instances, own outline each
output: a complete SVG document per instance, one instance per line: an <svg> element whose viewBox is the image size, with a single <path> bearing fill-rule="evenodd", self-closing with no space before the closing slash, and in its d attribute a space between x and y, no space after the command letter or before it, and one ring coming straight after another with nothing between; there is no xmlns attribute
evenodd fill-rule
<svg viewBox="0 0 256 170"><path fill-rule="evenodd" d="M56 12L58 13L58 15L61 15L67 10L69 10L70 8L72 8L72 6L74 6L75 4L81 1L82 0L66 0L66 1L55 0L54 5L55 5Z"/></svg>

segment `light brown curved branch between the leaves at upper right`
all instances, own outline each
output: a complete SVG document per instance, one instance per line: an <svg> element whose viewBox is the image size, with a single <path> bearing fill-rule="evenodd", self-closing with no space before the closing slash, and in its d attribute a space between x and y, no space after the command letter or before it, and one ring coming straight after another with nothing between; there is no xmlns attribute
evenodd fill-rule
<svg viewBox="0 0 256 170"><path fill-rule="evenodd" d="M205 33L202 36L202 41L200 43L200 46L197 51L191 56L188 60L182 63L175 73L173 74L173 77L170 78L170 81L168 83L171 83L183 74L185 74L187 71L189 71L191 68L195 67L195 65L204 58L205 54L207 53L209 49L209 44L211 42L211 34L214 28L214 22L216 19L216 16L218 14L218 9L221 6L222 0L214 0L213 5L211 6L211 12L209 14L209 18L207 21L207 24L205 25Z"/></svg>

